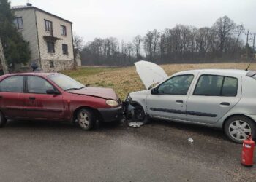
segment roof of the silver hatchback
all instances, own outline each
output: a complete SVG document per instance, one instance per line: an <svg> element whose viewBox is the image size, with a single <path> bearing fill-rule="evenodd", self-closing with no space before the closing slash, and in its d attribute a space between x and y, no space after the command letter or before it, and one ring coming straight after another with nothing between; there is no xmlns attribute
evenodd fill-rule
<svg viewBox="0 0 256 182"><path fill-rule="evenodd" d="M230 75L241 75L245 76L248 71L239 70L239 69L196 69L188 71L180 71L177 74L230 74Z"/></svg>

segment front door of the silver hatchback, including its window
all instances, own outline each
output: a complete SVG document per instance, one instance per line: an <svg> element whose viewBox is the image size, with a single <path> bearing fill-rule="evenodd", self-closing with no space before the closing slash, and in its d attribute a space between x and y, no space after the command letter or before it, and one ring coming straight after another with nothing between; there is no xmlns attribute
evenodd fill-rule
<svg viewBox="0 0 256 182"><path fill-rule="evenodd" d="M186 103L193 74L173 76L147 97L147 113L162 119L186 120Z"/></svg>

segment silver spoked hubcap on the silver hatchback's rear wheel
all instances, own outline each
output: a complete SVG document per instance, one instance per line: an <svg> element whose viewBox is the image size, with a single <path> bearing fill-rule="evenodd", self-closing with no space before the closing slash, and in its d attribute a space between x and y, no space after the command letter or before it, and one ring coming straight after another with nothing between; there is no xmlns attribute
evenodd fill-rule
<svg viewBox="0 0 256 182"><path fill-rule="evenodd" d="M247 136L252 133L249 124L241 120L232 122L228 128L228 131L230 132L231 137L237 141L244 141Z"/></svg>

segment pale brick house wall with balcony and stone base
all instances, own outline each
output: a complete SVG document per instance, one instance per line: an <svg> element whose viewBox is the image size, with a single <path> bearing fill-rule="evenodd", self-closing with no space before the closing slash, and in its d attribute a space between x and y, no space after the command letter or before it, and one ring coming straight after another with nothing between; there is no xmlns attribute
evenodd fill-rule
<svg viewBox="0 0 256 182"><path fill-rule="evenodd" d="M36 17L42 70L61 71L73 68L74 52L72 46L72 24L39 10L36 10ZM53 22L53 36L61 39L55 41L54 53L48 52L47 41L43 38L43 36L50 36L50 32L45 31L45 20ZM61 35L61 25L66 26L67 36ZM63 54L62 44L67 44L68 55ZM50 61L53 61L54 68L50 68Z"/></svg>

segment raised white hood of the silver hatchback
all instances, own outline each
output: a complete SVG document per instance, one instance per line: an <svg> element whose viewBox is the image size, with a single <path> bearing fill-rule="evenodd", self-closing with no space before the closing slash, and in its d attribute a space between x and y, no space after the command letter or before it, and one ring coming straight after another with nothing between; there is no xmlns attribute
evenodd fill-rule
<svg viewBox="0 0 256 182"><path fill-rule="evenodd" d="M135 66L136 71L146 89L148 89L152 84L163 82L168 78L165 71L155 63L140 60L135 63Z"/></svg>

